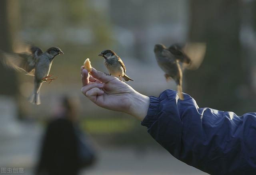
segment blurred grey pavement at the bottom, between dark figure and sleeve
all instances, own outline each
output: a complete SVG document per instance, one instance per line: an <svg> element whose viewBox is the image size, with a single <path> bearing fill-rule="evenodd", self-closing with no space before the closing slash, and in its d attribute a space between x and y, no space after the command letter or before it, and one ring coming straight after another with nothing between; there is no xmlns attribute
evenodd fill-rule
<svg viewBox="0 0 256 175"><path fill-rule="evenodd" d="M206 175L178 161L166 150L146 149L140 153L132 148L107 148L100 151L96 166L86 175Z"/></svg>

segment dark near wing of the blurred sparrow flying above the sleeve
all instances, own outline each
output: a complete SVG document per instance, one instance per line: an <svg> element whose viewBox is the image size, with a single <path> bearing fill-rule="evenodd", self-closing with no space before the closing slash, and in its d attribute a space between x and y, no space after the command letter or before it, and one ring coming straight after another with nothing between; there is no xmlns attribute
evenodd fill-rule
<svg viewBox="0 0 256 175"><path fill-rule="evenodd" d="M182 63L190 64L191 60L178 44L171 45L168 50Z"/></svg>

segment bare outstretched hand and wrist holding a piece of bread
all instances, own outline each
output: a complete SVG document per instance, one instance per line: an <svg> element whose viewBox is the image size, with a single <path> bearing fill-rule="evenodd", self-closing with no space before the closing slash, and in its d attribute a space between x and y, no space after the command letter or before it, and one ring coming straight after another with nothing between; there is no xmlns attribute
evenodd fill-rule
<svg viewBox="0 0 256 175"><path fill-rule="evenodd" d="M116 77L81 67L82 93L102 108L130 114L140 121L147 114L149 97L138 93Z"/></svg>

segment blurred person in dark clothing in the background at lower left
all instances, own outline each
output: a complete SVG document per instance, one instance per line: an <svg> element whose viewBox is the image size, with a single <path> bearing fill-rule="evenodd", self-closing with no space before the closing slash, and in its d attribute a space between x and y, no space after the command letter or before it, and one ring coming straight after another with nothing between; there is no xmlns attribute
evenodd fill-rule
<svg viewBox="0 0 256 175"><path fill-rule="evenodd" d="M62 99L57 118L46 129L36 175L77 175L94 163L95 152L78 127L77 104L72 98Z"/></svg>

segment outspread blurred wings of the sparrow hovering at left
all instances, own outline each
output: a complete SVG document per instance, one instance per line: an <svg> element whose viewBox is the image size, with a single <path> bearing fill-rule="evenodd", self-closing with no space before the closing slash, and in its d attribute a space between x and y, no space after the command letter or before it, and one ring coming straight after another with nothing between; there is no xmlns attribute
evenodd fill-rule
<svg viewBox="0 0 256 175"><path fill-rule="evenodd" d="M8 67L17 71L25 72L26 75L34 76L36 58L42 54L38 47L31 46L30 53L6 53L0 51L1 61Z"/></svg>

